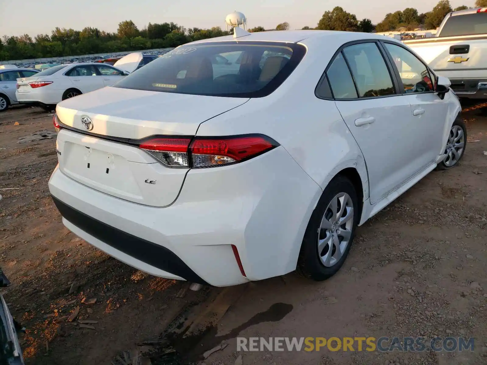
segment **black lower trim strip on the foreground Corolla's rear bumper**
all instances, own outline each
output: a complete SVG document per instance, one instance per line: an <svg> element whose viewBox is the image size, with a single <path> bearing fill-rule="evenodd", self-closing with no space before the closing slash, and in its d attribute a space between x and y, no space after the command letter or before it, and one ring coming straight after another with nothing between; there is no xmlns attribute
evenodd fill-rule
<svg viewBox="0 0 487 365"><path fill-rule="evenodd" d="M81 213L54 196L52 198L65 219L103 243L160 270L180 276L187 281L208 285L183 260L166 247L123 232L118 228Z"/></svg>

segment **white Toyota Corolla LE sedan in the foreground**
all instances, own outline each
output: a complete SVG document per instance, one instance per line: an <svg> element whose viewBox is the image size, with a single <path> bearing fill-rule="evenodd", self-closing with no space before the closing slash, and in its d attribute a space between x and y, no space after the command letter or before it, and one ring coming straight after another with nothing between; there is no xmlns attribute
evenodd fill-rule
<svg viewBox="0 0 487 365"><path fill-rule="evenodd" d="M66 227L149 274L326 279L357 225L462 158L460 103L393 38L238 35L59 103L49 189Z"/></svg>

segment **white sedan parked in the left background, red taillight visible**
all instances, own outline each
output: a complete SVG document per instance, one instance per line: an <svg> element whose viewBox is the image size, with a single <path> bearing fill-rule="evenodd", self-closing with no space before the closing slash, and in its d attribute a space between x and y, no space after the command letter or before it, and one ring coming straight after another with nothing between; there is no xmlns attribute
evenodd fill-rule
<svg viewBox="0 0 487 365"><path fill-rule="evenodd" d="M31 77L17 79L20 104L54 110L61 100L112 86L127 73L102 63L73 63L50 67Z"/></svg>

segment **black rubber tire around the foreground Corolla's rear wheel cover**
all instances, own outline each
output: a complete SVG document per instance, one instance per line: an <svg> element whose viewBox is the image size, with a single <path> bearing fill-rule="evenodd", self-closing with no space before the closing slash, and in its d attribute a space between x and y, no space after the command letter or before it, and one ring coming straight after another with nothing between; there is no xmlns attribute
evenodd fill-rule
<svg viewBox="0 0 487 365"><path fill-rule="evenodd" d="M337 260L333 266L326 267L322 263L320 254L318 253L318 235L320 234L318 233L318 230L320 229L321 219L323 218L324 214L327 213L326 211L328 205L332 199L340 193L348 194L352 200L354 208L353 223L351 228L352 234L350 235L348 245L345 248L341 258ZM316 206L309 220L308 226L304 233L303 242L301 244L297 268L298 272L301 275L316 281L328 279L336 274L341 265L343 265L343 262L347 258L350 248L352 247L359 216L359 204L353 183L343 176L335 177L323 191L323 194L318 201L318 205Z"/></svg>

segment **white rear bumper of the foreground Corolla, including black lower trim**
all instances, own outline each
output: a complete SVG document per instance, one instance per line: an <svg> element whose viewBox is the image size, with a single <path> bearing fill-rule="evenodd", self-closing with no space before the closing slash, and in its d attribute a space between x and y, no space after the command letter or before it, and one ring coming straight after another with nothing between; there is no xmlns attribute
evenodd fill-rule
<svg viewBox="0 0 487 365"><path fill-rule="evenodd" d="M99 192L58 167L49 190L64 225L110 256L149 274L213 286L295 270L321 195L283 147L241 164L190 170L165 208Z"/></svg>

